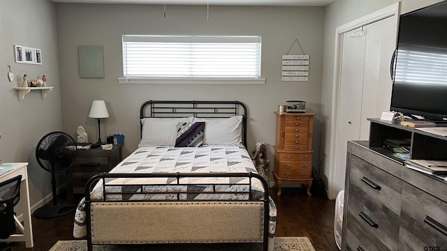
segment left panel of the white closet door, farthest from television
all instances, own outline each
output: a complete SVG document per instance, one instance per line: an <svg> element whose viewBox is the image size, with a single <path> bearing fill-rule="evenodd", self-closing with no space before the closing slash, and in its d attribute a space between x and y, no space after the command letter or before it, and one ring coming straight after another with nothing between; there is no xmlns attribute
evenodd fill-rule
<svg viewBox="0 0 447 251"><path fill-rule="evenodd" d="M358 139L362 102L362 82L365 59L365 36L361 29L344 33L337 133L337 170L346 169L346 144ZM344 189L345 172L336 172L336 190Z"/></svg>

